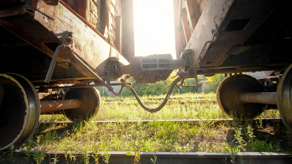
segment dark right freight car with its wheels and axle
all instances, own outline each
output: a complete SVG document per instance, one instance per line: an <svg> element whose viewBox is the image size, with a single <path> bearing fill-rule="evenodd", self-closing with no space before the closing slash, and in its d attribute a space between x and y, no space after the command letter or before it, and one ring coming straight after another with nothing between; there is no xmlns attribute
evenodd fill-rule
<svg viewBox="0 0 292 164"><path fill-rule="evenodd" d="M196 74L228 75L217 103L229 117L279 109L292 131L290 0L174 0L176 56ZM256 79L244 72L272 71Z"/></svg>

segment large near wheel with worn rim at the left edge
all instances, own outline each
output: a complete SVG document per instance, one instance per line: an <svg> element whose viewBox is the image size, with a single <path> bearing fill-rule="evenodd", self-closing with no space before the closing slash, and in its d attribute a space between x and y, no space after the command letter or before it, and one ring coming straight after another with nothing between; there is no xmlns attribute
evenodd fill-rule
<svg viewBox="0 0 292 164"><path fill-rule="evenodd" d="M0 74L0 150L24 144L37 128L37 91L25 77Z"/></svg>

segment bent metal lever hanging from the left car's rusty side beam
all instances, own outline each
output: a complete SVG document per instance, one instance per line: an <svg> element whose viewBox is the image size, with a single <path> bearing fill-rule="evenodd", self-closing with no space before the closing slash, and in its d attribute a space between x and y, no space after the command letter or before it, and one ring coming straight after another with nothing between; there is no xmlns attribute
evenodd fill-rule
<svg viewBox="0 0 292 164"><path fill-rule="evenodd" d="M61 45L59 45L55 50L55 53L53 55L53 58L52 58L52 61L51 61L51 64L50 64L50 67L48 70L48 73L47 73L46 78L45 78L45 83L50 83L50 80L51 80L51 77L53 75L53 72L54 72L54 69L55 69L57 59L58 59L60 52L63 50L66 50L67 53L69 53L69 54L73 53L73 49L71 49L69 47L69 45L70 44L72 45L72 43L73 43L72 33L66 32L64 36L65 36L65 39L64 39L63 43Z"/></svg>

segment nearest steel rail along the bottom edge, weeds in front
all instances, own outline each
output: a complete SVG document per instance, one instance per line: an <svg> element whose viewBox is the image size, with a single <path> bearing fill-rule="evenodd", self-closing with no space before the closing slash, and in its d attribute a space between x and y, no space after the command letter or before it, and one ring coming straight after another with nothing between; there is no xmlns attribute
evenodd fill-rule
<svg viewBox="0 0 292 164"><path fill-rule="evenodd" d="M55 152L2 151L3 164L291 164L289 152ZM95 158L94 158L95 157ZM107 158L108 157L108 158ZM138 156L137 156L138 157ZM156 157L156 161L155 160ZM152 158L152 160L151 160ZM98 162L98 163L97 163ZM153 163L154 162L154 163Z"/></svg>

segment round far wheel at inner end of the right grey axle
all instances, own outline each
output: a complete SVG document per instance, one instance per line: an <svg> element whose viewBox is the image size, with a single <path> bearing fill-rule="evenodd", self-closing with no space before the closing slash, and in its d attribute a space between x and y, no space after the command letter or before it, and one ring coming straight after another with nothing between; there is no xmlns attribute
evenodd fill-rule
<svg viewBox="0 0 292 164"><path fill-rule="evenodd" d="M256 78L242 74L226 77L217 89L216 98L220 109L229 117L246 120L260 115L265 104L242 103L240 92L265 92L264 86Z"/></svg>

